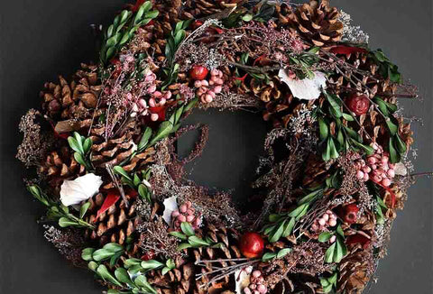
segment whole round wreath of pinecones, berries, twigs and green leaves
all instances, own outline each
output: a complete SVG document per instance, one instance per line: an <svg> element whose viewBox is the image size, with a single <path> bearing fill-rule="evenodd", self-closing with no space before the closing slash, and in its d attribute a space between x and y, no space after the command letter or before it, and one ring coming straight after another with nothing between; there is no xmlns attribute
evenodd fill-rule
<svg viewBox="0 0 433 294"><path fill-rule="evenodd" d="M414 178L397 98L415 96L326 0L139 0L97 65L45 84L17 157L46 238L107 293L358 293ZM269 125L247 203L186 179L197 107Z"/></svg>

